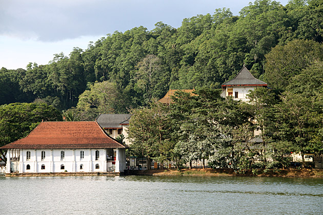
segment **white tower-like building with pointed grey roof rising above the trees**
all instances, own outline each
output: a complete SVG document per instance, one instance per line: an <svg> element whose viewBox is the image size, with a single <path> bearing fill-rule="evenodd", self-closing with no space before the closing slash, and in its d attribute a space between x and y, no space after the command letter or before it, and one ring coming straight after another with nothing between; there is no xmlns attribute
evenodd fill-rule
<svg viewBox="0 0 323 215"><path fill-rule="evenodd" d="M267 83L258 80L244 66L232 79L222 84L221 97L232 96L234 100L249 101L248 92L257 87L266 87Z"/></svg>

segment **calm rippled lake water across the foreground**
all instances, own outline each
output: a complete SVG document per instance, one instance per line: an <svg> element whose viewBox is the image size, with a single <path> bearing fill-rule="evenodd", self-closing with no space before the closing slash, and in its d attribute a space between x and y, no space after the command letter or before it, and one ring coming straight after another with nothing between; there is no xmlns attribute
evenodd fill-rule
<svg viewBox="0 0 323 215"><path fill-rule="evenodd" d="M0 214L323 214L323 179L0 177Z"/></svg>

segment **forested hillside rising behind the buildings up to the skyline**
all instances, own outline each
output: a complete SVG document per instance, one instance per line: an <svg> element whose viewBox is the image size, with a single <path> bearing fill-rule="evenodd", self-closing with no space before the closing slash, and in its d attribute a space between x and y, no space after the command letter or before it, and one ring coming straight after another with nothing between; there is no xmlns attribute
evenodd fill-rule
<svg viewBox="0 0 323 215"><path fill-rule="evenodd" d="M75 107L67 113L86 112L79 117L93 120L100 112L125 113L130 106L144 106L169 89L220 88L244 64L271 88L284 90L286 82L273 78L284 63L272 62L281 56L299 61L282 74L288 81L314 58L321 59L322 29L323 1L292 0L284 7L264 0L241 9L238 16L224 8L185 18L178 29L159 22L151 31L140 26L114 32L89 42L86 50L55 54L48 65L2 68L0 104L41 100L59 110ZM295 48L301 44L307 54ZM282 52L285 46L300 53ZM102 98L104 92L109 96Z"/></svg>

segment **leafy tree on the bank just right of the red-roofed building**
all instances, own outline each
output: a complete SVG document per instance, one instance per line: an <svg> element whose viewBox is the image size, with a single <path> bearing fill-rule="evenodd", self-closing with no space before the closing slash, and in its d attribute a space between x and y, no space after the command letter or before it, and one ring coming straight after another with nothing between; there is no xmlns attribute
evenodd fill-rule
<svg viewBox="0 0 323 215"><path fill-rule="evenodd" d="M147 158L148 169L151 159L159 161L163 168L173 148L169 136L172 126L168 106L153 101L150 107L131 109L130 113L128 139L132 143L132 152Z"/></svg>

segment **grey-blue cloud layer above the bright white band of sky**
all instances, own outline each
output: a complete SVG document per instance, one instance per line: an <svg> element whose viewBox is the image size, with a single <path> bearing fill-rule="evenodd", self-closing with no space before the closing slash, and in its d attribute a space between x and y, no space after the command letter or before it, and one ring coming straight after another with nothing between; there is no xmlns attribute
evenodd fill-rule
<svg viewBox="0 0 323 215"><path fill-rule="evenodd" d="M286 0L287 1L287 0ZM19 39L59 41L106 35L161 21L175 28L183 18L213 13L248 0L0 0L0 35ZM237 14L237 11L233 11Z"/></svg>

